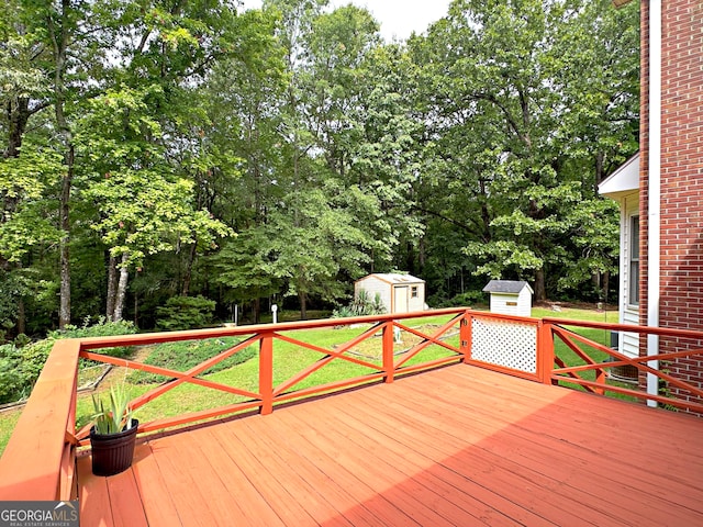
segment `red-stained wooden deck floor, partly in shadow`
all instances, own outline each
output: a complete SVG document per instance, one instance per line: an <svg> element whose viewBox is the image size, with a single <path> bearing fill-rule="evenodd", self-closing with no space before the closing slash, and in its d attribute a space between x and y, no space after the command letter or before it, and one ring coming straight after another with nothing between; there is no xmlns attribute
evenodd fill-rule
<svg viewBox="0 0 703 527"><path fill-rule="evenodd" d="M703 525L703 421L458 365L79 459L81 525Z"/></svg>

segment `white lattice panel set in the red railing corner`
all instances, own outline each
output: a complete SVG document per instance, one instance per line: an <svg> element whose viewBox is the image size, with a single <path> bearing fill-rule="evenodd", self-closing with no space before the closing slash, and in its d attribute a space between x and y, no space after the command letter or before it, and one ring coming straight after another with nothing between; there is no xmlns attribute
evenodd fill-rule
<svg viewBox="0 0 703 527"><path fill-rule="evenodd" d="M473 318L471 321L471 358L536 373L537 326Z"/></svg>

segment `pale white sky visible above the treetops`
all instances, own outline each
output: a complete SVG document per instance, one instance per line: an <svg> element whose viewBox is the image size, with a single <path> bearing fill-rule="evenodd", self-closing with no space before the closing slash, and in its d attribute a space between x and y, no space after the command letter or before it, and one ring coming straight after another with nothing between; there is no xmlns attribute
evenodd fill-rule
<svg viewBox="0 0 703 527"><path fill-rule="evenodd" d="M245 9L261 7L261 0L243 0ZM405 40L414 31L423 33L429 24L447 14L450 0L331 0L338 8L354 3L366 8L381 24L381 35L387 42Z"/></svg>

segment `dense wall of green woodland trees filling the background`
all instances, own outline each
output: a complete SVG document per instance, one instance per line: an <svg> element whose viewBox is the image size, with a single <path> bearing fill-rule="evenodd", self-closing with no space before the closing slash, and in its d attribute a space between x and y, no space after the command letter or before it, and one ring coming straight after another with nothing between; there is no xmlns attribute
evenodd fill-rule
<svg viewBox="0 0 703 527"><path fill-rule="evenodd" d="M74 321L175 329L213 317L175 295L305 316L371 270L423 277L433 305L616 270L595 189L637 149L638 2L457 0L392 44L355 5L181 3L0 14L7 338L56 326L67 271Z"/></svg>

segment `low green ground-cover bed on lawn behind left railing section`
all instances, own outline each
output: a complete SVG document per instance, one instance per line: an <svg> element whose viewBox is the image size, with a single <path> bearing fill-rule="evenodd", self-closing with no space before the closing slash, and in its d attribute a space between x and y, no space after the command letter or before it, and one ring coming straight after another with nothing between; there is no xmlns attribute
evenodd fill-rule
<svg viewBox="0 0 703 527"><path fill-rule="evenodd" d="M211 338L208 340L186 340L180 343L166 343L155 346L148 357L144 360L145 365L168 368L169 370L187 371L194 366L214 357L235 346L239 340L234 337ZM233 366L246 362L256 356L256 349L252 346L234 354L232 357L216 363L212 368L205 370L202 374L214 373L216 371L226 370ZM147 373L144 371L132 372L127 377L130 382L135 384L148 384L154 382L163 382L164 375Z"/></svg>

